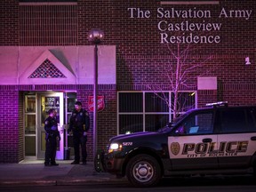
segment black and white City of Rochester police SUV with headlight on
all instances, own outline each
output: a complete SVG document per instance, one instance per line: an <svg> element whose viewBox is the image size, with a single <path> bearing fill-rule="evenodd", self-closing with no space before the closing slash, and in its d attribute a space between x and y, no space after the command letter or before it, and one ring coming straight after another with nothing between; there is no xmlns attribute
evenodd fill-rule
<svg viewBox="0 0 256 192"><path fill-rule="evenodd" d="M255 175L256 107L228 107L227 102L211 106L190 110L157 132L111 138L100 167L126 175L137 187L175 175Z"/></svg>

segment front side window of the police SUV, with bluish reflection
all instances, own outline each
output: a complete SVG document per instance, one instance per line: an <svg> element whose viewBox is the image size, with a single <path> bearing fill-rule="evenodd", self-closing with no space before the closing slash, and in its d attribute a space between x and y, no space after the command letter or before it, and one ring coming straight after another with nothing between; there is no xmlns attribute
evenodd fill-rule
<svg viewBox="0 0 256 192"><path fill-rule="evenodd" d="M212 112L189 116L182 124L180 124L176 132L188 135L212 133L212 117Z"/></svg>

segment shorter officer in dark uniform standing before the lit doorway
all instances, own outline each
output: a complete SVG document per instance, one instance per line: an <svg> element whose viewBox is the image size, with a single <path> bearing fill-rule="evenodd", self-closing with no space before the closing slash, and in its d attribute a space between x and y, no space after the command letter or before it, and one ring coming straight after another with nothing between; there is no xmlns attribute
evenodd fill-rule
<svg viewBox="0 0 256 192"><path fill-rule="evenodd" d="M56 150L57 150L57 140L60 140L60 132L58 131L58 123L56 119L56 111L51 108L48 111L49 116L44 121L45 130L45 140L46 140L46 150L44 165L59 165L55 162ZM51 163L51 164L50 164Z"/></svg>

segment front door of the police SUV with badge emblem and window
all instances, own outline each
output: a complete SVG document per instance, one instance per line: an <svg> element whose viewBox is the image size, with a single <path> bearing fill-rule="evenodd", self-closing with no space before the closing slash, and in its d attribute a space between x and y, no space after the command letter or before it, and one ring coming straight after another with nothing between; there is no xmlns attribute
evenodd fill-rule
<svg viewBox="0 0 256 192"><path fill-rule="evenodd" d="M213 134L213 111L191 114L168 137L172 170L216 169L218 148Z"/></svg>

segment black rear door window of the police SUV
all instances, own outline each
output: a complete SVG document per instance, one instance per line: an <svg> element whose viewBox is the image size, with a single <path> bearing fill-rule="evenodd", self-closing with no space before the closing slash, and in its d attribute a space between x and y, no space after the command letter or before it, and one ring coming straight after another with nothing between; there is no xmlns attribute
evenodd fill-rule
<svg viewBox="0 0 256 192"><path fill-rule="evenodd" d="M248 132L246 110L244 108L227 108L220 111L220 132Z"/></svg>

